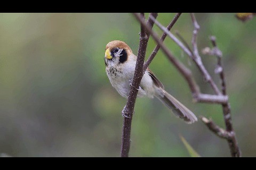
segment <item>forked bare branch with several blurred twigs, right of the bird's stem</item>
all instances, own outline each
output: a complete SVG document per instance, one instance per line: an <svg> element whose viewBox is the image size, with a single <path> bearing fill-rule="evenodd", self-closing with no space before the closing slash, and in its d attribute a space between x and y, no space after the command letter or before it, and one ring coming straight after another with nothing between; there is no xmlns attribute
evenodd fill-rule
<svg viewBox="0 0 256 170"><path fill-rule="evenodd" d="M183 77L185 77L185 79L187 80L190 90L193 93L193 98L197 102L200 101L200 102L205 102L205 103L222 104L223 114L225 117L225 124L227 127L226 130L219 128L219 126L214 124L212 121L207 121L206 118L203 118L203 120L204 120L203 122L206 123L206 125L209 127L209 129L211 131L213 131L215 134L218 134L219 137L225 138L228 141L229 148L231 151L231 156L233 156L233 157L241 156L241 152L239 151L239 148L237 145L237 140L235 137L235 132L234 132L233 126L231 124L230 106L228 104L228 96L226 95L226 83L225 83L223 68L221 65L221 55L222 54L221 54L220 50L217 48L215 40L212 39L212 43L215 48L214 52L216 53L216 55L218 57L218 66L217 66L217 69L215 70L215 72L218 71L218 73L220 74L222 93L220 92L217 85L211 78L211 75L209 74L209 72L205 69L205 66L203 65L201 56L198 53L196 37L197 37L197 33L198 33L198 30L200 27L196 21L195 15L193 13L191 13L191 20L193 21L193 24L194 24L193 38L191 41L192 46L193 46L193 52L192 52L192 50L190 50L190 48L187 44L184 45L169 30L164 28L163 25L161 25L155 18L151 17L151 19L154 20L155 24L159 28L161 28L164 31L164 33L166 33L166 35L168 35L171 39L173 39L173 41L175 43L177 43L178 46L180 46L180 48L195 62L199 71L201 71L203 77L205 78L205 80L210 83L210 85L216 95L201 94L199 91L199 88L197 87L197 84L192 79L191 71L189 70L189 72L186 72L186 70L188 70L188 69L185 66L183 66L181 63L179 63L178 61L175 60L175 58L171 55L169 50L167 50L166 47L162 44L162 41L158 40L156 33L151 31L152 37L155 39L155 41L158 43L158 45L163 49L163 52L165 53L165 55L167 57L169 57L169 60L174 64L174 66L177 67L177 69L181 72ZM143 24L142 21L140 21L140 22L141 22L141 24ZM145 25L145 24L143 24L143 25ZM179 67L179 65L182 65L182 67ZM184 67L185 67L185 69L183 69Z"/></svg>

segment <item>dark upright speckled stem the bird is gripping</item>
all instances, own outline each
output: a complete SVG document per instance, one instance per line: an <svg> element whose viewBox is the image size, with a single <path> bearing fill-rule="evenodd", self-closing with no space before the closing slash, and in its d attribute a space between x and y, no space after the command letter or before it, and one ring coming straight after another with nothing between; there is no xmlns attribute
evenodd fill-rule
<svg viewBox="0 0 256 170"><path fill-rule="evenodd" d="M136 14L138 17L143 21L145 21L144 13ZM153 27L151 24L151 28ZM143 77L143 63L145 60L145 54L148 44L148 38L146 35L146 30L141 25L140 27L140 44L138 49L138 57L135 66L134 77L132 81L132 86L130 90L130 94L127 99L127 103L124 106L122 111L124 115L124 122L123 122L123 134L122 134L122 146L121 146L121 157L128 157L129 150L130 150L130 136L131 136L131 125L132 125L132 115L134 113L134 105L137 98L139 84Z"/></svg>

